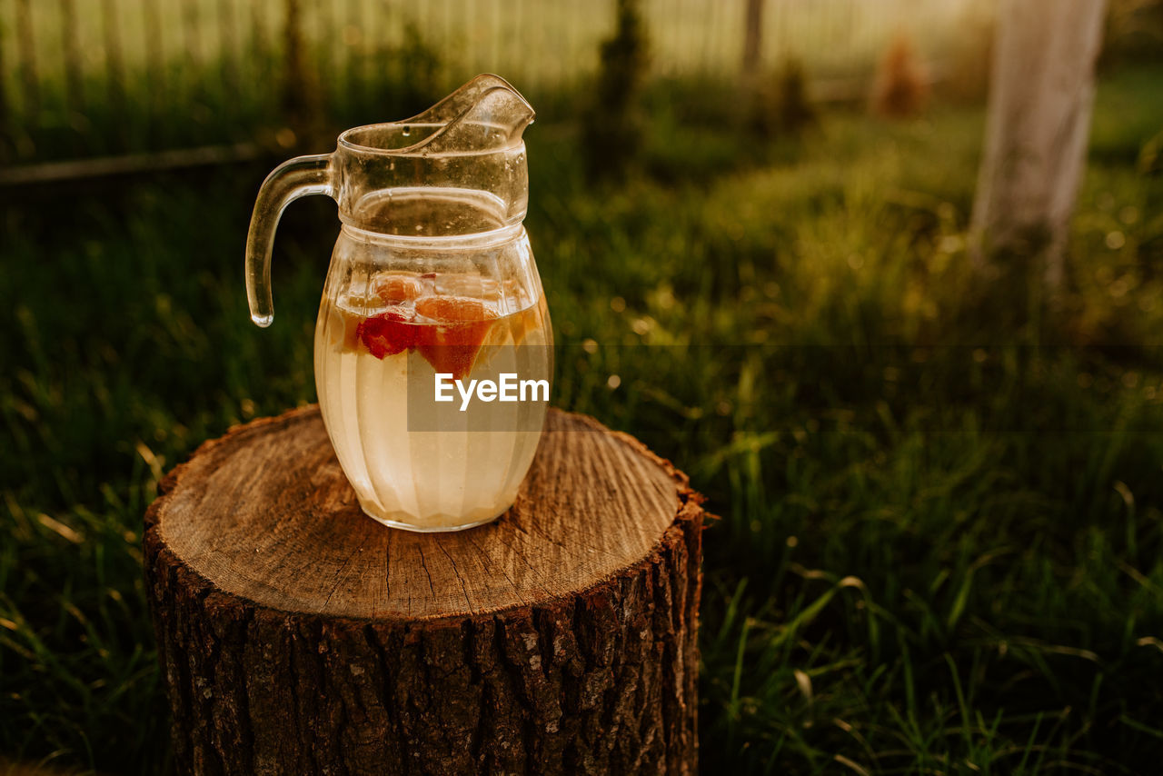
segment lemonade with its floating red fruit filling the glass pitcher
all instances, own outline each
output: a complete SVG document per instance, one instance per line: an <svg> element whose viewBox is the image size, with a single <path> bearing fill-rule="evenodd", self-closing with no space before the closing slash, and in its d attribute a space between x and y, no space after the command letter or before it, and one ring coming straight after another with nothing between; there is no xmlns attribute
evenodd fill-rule
<svg viewBox="0 0 1163 776"><path fill-rule="evenodd" d="M437 420L434 384L437 375L469 383L515 373L548 386L550 328L536 285L376 272L324 293L315 385L364 512L394 527L449 531L492 520L513 504L545 401L463 407L458 400Z"/></svg>

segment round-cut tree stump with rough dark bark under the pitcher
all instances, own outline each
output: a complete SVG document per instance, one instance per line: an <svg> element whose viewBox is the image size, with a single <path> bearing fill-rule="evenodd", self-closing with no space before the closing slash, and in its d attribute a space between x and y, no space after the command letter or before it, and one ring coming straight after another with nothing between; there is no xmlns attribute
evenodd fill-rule
<svg viewBox="0 0 1163 776"><path fill-rule="evenodd" d="M516 504L365 517L317 407L205 443L145 515L174 756L194 774L697 770L701 497L551 411Z"/></svg>

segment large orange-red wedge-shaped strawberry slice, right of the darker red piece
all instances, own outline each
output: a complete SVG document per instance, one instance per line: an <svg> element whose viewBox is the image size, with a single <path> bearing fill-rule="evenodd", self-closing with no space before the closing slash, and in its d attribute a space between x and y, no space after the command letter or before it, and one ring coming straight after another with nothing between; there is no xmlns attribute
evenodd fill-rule
<svg viewBox="0 0 1163 776"><path fill-rule="evenodd" d="M472 371L497 313L479 299L468 297L422 297L416 300L416 312L435 321L419 327L415 344L420 355L437 372L463 379Z"/></svg>

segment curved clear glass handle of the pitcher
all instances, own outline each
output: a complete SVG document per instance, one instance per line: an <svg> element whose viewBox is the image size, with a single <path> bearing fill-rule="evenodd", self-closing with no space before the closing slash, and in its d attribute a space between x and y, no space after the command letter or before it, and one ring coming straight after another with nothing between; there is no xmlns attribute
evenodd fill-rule
<svg viewBox="0 0 1163 776"><path fill-rule="evenodd" d="M286 206L307 194L335 197L331 155L299 156L274 168L258 190L247 234L247 301L250 319L258 326L274 320L271 300L271 249L274 230Z"/></svg>

